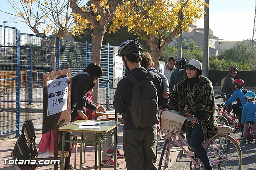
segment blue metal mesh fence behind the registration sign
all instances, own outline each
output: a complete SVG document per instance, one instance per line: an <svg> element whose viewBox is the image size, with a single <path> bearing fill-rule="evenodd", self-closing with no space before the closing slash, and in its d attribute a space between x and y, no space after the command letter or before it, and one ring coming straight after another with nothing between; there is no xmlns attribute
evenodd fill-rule
<svg viewBox="0 0 256 170"><path fill-rule="evenodd" d="M20 33L18 28L0 26L0 134L16 130L31 119L42 127L42 74L72 68L72 75L91 61L92 44ZM98 103L112 109L114 46L102 45Z"/></svg>

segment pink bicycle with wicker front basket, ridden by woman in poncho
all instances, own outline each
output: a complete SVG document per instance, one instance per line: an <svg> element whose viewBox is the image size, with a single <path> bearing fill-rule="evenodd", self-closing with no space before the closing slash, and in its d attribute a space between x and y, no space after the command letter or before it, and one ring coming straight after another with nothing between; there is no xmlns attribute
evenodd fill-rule
<svg viewBox="0 0 256 170"><path fill-rule="evenodd" d="M162 115L163 111L160 111L160 117ZM171 113L171 112L169 112ZM167 113L168 115L170 115ZM180 115L177 115L175 113L171 113L172 117L177 117ZM174 115L176 116L174 116ZM180 116L182 117L182 116ZM161 119L161 118L160 118ZM166 118L163 118L166 119ZM176 118L174 118L176 119ZM186 118L185 118L186 119ZM177 119L176 119L177 120ZM184 120L184 119L183 119ZM160 120L161 121L161 120ZM185 120L184 120L185 121ZM184 123L183 121L183 123ZM170 150L172 146L172 140L183 150L183 152L190 158L190 170L202 170L204 169L204 165L200 161L200 159L197 159L194 156L190 156L188 151L185 150L185 148L181 145L181 143L176 140L174 134L179 137L179 139L186 145L188 148L192 150L192 147L186 142L184 138L179 134L180 130L182 128L182 121L177 123L176 121L170 120L169 124L173 124L168 126L168 129L165 128L165 130L169 130L165 134L165 142L164 147L162 150L162 154L160 157L160 161L158 164L158 170L165 170L169 168L169 159L170 159ZM179 125L181 124L181 126ZM161 124L160 124L160 128ZM213 166L213 169L236 169L241 170L242 167L242 151L238 144L239 141L236 141L232 136L222 133L221 130L218 130L219 133L214 135L212 138L210 138L208 141L204 143L204 148L208 152L210 162ZM174 134L172 134L174 133Z"/></svg>

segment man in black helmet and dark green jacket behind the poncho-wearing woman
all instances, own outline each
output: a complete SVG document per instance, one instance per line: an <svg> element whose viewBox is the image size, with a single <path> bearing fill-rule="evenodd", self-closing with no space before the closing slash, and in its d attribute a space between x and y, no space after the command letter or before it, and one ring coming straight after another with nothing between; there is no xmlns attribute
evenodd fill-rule
<svg viewBox="0 0 256 170"><path fill-rule="evenodd" d="M186 69L184 69L184 65L186 65L186 58L178 58L176 60L176 69L171 74L170 83L169 83L169 91L170 93L173 91L175 85L177 85L180 81L182 81L186 76Z"/></svg>

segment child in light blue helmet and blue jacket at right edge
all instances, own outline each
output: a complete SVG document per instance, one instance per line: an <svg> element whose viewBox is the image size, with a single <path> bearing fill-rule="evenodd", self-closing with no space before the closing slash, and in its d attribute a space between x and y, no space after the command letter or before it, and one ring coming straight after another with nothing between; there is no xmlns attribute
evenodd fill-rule
<svg viewBox="0 0 256 170"><path fill-rule="evenodd" d="M256 103L254 103L255 99L255 93L252 91L248 91L244 97L246 97L247 103L244 105L243 111L242 111L242 124L244 125L244 140L243 142L246 142L246 133L248 131L249 123L248 122L254 122L252 123L252 127L254 129L253 133L254 136L256 136Z"/></svg>

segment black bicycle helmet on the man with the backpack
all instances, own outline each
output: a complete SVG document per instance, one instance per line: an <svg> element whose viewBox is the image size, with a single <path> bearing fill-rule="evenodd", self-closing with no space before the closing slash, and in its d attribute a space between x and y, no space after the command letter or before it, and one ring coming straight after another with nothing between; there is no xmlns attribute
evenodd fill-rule
<svg viewBox="0 0 256 170"><path fill-rule="evenodd" d="M118 56L122 57L123 55L140 55L142 48L137 40L127 40L122 42L118 47Z"/></svg>

